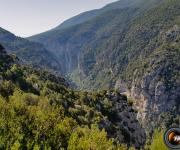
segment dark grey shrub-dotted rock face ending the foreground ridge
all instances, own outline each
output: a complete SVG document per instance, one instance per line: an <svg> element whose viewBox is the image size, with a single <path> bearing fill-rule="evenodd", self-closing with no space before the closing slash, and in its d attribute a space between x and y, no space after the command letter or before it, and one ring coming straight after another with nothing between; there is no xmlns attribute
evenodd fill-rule
<svg viewBox="0 0 180 150"><path fill-rule="evenodd" d="M101 121L100 128L106 129L108 136L117 137L120 143L143 148L146 142L145 129L137 120L137 112L127 103L127 97L114 92L106 96L113 107L109 108L110 118Z"/></svg>

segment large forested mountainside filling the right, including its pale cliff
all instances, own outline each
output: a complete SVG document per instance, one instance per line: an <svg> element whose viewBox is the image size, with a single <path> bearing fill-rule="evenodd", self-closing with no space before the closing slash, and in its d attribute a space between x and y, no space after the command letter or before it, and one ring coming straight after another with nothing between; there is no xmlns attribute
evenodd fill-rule
<svg viewBox="0 0 180 150"><path fill-rule="evenodd" d="M121 2L126 7L116 7ZM134 3L119 1L86 22L30 39L56 54L79 88L128 94L139 119L179 114L180 1Z"/></svg>

